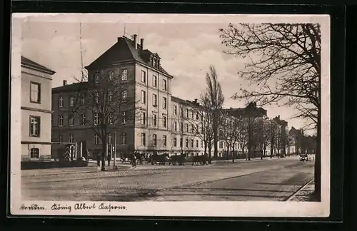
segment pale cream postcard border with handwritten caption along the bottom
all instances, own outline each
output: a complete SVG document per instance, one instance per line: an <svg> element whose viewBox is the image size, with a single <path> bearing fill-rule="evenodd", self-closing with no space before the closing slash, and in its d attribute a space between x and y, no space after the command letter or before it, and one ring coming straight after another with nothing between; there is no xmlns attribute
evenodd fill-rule
<svg viewBox="0 0 357 231"><path fill-rule="evenodd" d="M328 217L330 214L330 17L328 15L178 15L178 14L49 14L49 21L67 20L113 23L217 23L288 22L321 24L321 202L66 202L21 200L21 25L23 20L36 20L47 14L13 14L11 31L11 183L12 215L122 215L180 217ZM26 18L28 16L34 16ZM36 17L37 16L37 17ZM56 18L56 16L59 16ZM51 210L51 206L71 206ZM93 210L75 210L76 203L96 204ZM105 205L126 209L99 209ZM46 210L21 210L22 205L46 207Z"/></svg>

